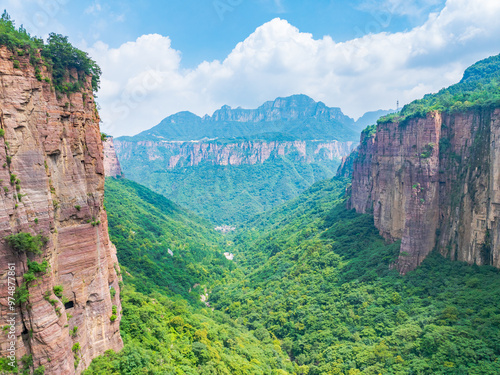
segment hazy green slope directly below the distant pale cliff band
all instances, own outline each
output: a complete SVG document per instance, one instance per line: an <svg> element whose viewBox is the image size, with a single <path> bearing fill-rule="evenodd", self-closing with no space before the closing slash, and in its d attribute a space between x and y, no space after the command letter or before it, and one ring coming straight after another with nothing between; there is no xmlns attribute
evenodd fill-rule
<svg viewBox="0 0 500 375"><path fill-rule="evenodd" d="M125 175L202 215L214 224L237 224L295 198L314 182L331 178L336 160L307 164L294 156L272 157L263 164L220 166L203 163L167 169L149 162L147 151L123 160Z"/></svg>

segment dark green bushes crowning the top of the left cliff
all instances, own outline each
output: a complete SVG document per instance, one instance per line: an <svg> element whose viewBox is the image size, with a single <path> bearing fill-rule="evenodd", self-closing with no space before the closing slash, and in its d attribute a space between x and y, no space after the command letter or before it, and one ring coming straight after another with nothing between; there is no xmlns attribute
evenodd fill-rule
<svg viewBox="0 0 500 375"><path fill-rule="evenodd" d="M33 65L36 78L52 82L59 92L80 91L88 76L92 77L93 91L99 89L101 69L86 52L73 47L65 36L51 33L47 44L44 44L42 39L31 36L24 27L16 28L4 11L0 18L0 45L12 51L14 68L21 69L28 63ZM43 77L43 66L51 77ZM77 76L71 74L72 70Z"/></svg>

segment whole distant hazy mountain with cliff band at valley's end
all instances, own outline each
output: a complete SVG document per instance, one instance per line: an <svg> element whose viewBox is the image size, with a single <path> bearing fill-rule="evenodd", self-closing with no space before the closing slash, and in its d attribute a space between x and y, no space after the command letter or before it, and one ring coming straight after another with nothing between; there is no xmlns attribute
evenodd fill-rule
<svg viewBox="0 0 500 375"><path fill-rule="evenodd" d="M203 118L180 112L113 143L128 178L217 225L233 225L334 176L360 129L390 112L354 121L293 95L257 109L223 106Z"/></svg>

